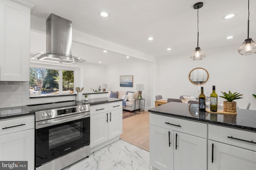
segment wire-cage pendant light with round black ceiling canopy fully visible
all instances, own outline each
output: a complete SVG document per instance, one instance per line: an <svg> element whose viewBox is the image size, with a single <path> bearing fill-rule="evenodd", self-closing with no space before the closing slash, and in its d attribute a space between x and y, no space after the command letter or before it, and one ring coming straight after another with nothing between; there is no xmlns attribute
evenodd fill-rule
<svg viewBox="0 0 256 170"><path fill-rule="evenodd" d="M200 47L198 47L198 37L199 37L198 9L202 8L203 5L204 5L203 2L198 2L198 3L194 4L194 9L197 10L197 47L196 47L195 51L192 53L192 55L190 57L190 59L192 59L192 60L202 60L205 57L204 52L200 49Z"/></svg>

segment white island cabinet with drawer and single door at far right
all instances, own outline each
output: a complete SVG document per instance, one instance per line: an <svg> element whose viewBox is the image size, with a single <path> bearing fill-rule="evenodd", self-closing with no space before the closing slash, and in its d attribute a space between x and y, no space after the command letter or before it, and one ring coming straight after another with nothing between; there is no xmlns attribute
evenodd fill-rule
<svg viewBox="0 0 256 170"><path fill-rule="evenodd" d="M256 169L255 132L208 126L208 170Z"/></svg>

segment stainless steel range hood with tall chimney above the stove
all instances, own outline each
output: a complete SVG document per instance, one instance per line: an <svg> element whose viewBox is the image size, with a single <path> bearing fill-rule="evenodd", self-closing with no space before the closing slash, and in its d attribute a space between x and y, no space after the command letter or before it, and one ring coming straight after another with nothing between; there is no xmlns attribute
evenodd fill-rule
<svg viewBox="0 0 256 170"><path fill-rule="evenodd" d="M38 53L30 60L54 63L80 63L85 60L72 56L72 21L55 14L46 20L46 53Z"/></svg>

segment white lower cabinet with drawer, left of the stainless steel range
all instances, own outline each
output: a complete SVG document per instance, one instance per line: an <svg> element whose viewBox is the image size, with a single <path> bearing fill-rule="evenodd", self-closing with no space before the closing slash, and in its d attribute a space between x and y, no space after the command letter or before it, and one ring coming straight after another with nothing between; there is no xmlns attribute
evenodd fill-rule
<svg viewBox="0 0 256 170"><path fill-rule="evenodd" d="M0 160L28 161L34 170L34 116L0 121Z"/></svg>

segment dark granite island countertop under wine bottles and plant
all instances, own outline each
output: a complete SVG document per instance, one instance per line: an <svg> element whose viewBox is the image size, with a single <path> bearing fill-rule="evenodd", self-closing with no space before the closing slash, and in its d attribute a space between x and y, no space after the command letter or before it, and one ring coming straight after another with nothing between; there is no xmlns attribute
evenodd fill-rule
<svg viewBox="0 0 256 170"><path fill-rule="evenodd" d="M222 115L208 112L199 112L198 104L170 102L149 109L148 111L159 115L202 121L206 123L256 132L256 110L237 109L236 115Z"/></svg>

